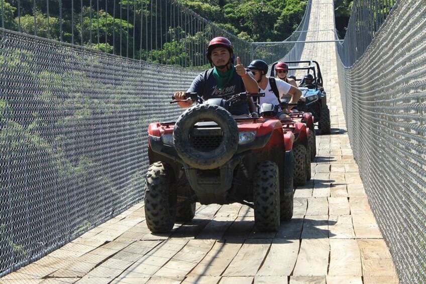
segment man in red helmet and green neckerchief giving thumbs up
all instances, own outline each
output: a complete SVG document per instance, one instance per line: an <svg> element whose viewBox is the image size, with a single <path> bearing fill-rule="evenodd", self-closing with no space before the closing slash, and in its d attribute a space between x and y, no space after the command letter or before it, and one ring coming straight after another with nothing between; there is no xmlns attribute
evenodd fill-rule
<svg viewBox="0 0 426 284"><path fill-rule="evenodd" d="M241 64L239 57L237 57L237 65L234 65L234 49L227 38L212 39L207 46L206 56L213 68L195 77L187 92L202 94L202 98L208 100L232 96L246 90L251 93L258 91L257 82L253 79L251 72ZM174 98L179 101L178 105L182 108L193 104L193 101L186 100L183 91L175 92ZM252 117L257 117L256 107L251 98L248 98L246 102L234 104L230 113L233 116L248 117L251 114Z"/></svg>

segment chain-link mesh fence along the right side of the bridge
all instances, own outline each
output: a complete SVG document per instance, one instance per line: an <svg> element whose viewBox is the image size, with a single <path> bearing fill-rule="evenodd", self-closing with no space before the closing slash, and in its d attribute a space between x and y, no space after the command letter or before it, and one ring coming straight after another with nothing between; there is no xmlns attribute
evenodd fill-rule
<svg viewBox="0 0 426 284"><path fill-rule="evenodd" d="M399 279L426 283L426 8L401 0L381 22L380 7L371 4L354 2L345 42L337 45L342 103Z"/></svg>

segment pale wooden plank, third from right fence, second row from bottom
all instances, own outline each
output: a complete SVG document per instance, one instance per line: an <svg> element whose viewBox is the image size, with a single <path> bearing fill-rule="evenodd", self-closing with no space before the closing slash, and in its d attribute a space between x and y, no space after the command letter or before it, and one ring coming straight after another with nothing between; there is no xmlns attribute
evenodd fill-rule
<svg viewBox="0 0 426 284"><path fill-rule="evenodd" d="M302 239L293 276L326 275L329 254L329 239Z"/></svg>

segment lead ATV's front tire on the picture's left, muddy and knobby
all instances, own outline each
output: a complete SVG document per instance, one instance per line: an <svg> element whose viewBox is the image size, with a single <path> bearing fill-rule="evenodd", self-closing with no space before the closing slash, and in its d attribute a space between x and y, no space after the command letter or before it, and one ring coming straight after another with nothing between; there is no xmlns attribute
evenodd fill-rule
<svg viewBox="0 0 426 284"><path fill-rule="evenodd" d="M176 191L170 186L172 176L167 164L155 162L145 179L145 218L153 233L168 233L176 219Z"/></svg>

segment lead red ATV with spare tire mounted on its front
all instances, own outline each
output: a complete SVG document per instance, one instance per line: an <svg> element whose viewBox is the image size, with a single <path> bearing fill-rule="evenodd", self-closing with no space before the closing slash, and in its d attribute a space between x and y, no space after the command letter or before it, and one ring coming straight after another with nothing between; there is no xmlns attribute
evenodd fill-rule
<svg viewBox="0 0 426 284"><path fill-rule="evenodd" d="M152 232L191 220L196 202L254 208L257 231L277 231L280 220L291 219L294 135L284 134L279 120L234 119L228 111L260 96L239 93L204 102L187 93L195 106L176 122L149 125L145 214Z"/></svg>

